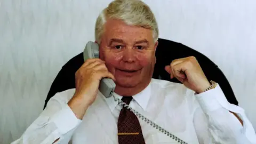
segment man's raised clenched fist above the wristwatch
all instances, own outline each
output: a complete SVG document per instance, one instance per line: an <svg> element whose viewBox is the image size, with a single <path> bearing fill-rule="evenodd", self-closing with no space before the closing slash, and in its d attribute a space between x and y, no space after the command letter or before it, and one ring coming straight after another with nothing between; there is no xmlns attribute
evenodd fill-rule
<svg viewBox="0 0 256 144"><path fill-rule="evenodd" d="M165 70L171 78L177 78L188 89L201 93L211 84L195 57L187 57L173 60Z"/></svg>

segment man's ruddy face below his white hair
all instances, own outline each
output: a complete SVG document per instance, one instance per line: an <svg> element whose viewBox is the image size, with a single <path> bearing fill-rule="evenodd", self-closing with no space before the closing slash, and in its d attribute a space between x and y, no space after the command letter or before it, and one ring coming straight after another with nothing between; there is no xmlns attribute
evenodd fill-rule
<svg viewBox="0 0 256 144"><path fill-rule="evenodd" d="M150 82L156 46L152 30L128 26L121 20L107 20L99 53L116 78L116 89L145 86Z"/></svg>

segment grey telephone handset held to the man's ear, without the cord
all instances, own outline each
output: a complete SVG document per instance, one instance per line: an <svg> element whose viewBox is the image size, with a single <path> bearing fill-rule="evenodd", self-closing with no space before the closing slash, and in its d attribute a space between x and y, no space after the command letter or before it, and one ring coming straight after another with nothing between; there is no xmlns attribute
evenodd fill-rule
<svg viewBox="0 0 256 144"><path fill-rule="evenodd" d="M94 42L88 42L84 49L84 61L91 58L99 58L99 45ZM100 92L106 97L111 97L115 91L116 84L111 78L102 78L99 85Z"/></svg>

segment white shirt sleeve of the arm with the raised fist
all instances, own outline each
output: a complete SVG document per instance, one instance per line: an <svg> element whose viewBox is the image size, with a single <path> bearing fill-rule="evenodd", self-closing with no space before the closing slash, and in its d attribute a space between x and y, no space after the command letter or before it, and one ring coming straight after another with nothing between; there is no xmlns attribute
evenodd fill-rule
<svg viewBox="0 0 256 144"><path fill-rule="evenodd" d="M219 85L194 97L200 106L194 113L199 143L256 143L255 131L244 109L230 104ZM242 119L243 125L230 111Z"/></svg>

